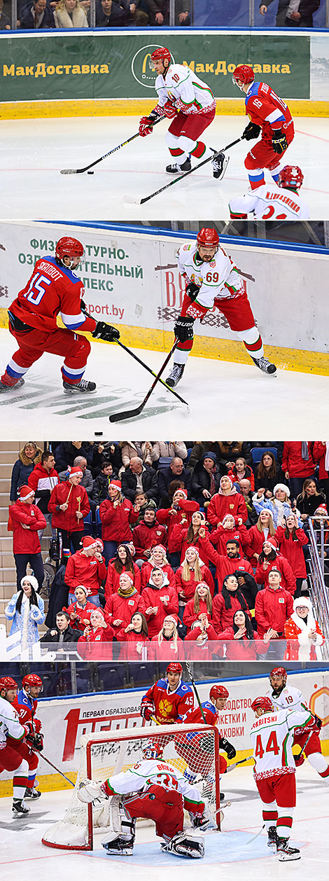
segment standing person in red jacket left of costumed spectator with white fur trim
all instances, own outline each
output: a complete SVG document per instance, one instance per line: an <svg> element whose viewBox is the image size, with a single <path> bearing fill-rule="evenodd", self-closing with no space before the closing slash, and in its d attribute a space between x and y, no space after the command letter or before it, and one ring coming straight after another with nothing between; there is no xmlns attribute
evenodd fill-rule
<svg viewBox="0 0 329 881"><path fill-rule="evenodd" d="M256 596L255 618L260 639L263 639L265 633L270 634L271 657L276 657L277 660L283 658L286 648L284 625L292 615L293 609L291 594L281 587L280 570L271 569L268 575L268 587L260 590Z"/></svg>

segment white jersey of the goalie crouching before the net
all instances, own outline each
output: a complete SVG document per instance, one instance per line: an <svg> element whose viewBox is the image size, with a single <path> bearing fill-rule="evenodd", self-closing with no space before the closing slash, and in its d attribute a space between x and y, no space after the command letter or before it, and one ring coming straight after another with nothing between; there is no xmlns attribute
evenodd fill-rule
<svg viewBox="0 0 329 881"><path fill-rule="evenodd" d="M157 759L137 762L128 771L109 777L107 783L113 789L113 794L122 796L129 792L144 792L153 783L158 783L168 789L178 789L181 796L188 798L190 802L202 803L199 789L191 786L178 768Z"/></svg>

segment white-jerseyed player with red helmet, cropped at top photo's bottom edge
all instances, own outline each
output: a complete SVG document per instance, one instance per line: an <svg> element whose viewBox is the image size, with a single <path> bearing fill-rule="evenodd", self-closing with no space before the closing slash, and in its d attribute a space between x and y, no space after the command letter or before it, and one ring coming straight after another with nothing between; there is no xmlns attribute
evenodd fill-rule
<svg viewBox="0 0 329 881"><path fill-rule="evenodd" d="M298 196L303 173L298 166L282 168L277 184L264 183L250 189L244 196L230 199L230 218L245 220L248 214L256 220L308 220L308 205Z"/></svg>

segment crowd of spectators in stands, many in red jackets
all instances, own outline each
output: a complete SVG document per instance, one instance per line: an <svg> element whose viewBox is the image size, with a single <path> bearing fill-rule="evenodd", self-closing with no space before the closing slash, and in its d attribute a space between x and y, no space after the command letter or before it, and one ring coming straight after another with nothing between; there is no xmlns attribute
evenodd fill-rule
<svg viewBox="0 0 329 881"><path fill-rule="evenodd" d="M27 643L39 638L48 521L60 565L44 642L72 637L89 659L113 640L125 658L145 646L160 659L186 647L203 659L320 657L308 517L326 515L328 475L328 441L63 441L43 452L28 441L12 469L6 617Z"/></svg>

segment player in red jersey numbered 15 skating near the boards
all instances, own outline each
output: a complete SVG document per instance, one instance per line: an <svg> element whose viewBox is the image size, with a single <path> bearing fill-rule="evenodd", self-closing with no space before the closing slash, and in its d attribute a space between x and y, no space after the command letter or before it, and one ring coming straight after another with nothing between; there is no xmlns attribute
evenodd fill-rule
<svg viewBox="0 0 329 881"><path fill-rule="evenodd" d="M63 236L56 244L55 256L41 257L35 263L26 287L8 310L9 330L18 350L1 377L0 391L22 386L26 371L44 352L64 358L62 384L67 394L95 391L95 382L83 379L91 344L79 331L109 343L119 339L120 332L84 315L84 285L74 271L83 256L81 242ZM61 315L65 329L57 326L57 315Z"/></svg>

